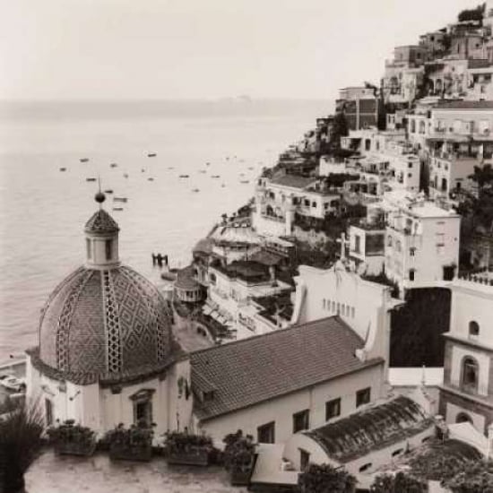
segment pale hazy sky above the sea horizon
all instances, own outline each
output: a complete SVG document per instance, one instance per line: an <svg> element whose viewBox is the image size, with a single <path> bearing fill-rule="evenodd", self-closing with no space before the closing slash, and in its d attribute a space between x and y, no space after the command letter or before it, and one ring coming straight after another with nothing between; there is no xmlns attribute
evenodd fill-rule
<svg viewBox="0 0 493 493"><path fill-rule="evenodd" d="M0 0L0 99L334 99L479 0Z"/></svg>

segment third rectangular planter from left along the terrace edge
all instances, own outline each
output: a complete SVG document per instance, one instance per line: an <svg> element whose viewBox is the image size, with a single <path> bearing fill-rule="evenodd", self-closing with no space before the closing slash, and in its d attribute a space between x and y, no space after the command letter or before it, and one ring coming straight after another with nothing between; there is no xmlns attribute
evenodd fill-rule
<svg viewBox="0 0 493 493"><path fill-rule="evenodd" d="M212 453L212 438L185 431L166 434L165 454L169 464L208 465Z"/></svg>

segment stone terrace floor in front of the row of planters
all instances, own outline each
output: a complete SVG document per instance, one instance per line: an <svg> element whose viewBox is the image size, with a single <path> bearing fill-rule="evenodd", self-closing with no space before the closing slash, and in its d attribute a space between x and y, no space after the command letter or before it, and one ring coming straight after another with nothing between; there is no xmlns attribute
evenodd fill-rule
<svg viewBox="0 0 493 493"><path fill-rule="evenodd" d="M229 485L219 467L169 466L162 457L151 463L111 462L108 454L90 458L42 454L26 473L27 493L246 493Z"/></svg>

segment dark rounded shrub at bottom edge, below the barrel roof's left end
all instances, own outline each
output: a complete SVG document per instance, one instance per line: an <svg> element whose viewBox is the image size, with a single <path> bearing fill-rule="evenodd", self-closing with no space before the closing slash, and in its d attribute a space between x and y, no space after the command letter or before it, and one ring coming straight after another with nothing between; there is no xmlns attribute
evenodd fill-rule
<svg viewBox="0 0 493 493"><path fill-rule="evenodd" d="M330 464L309 464L299 475L298 486L301 493L353 493L356 478Z"/></svg>

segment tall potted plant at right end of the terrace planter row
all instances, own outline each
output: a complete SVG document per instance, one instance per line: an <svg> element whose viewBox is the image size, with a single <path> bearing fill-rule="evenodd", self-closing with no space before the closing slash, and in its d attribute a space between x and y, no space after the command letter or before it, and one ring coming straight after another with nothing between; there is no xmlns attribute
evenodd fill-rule
<svg viewBox="0 0 493 493"><path fill-rule="evenodd" d="M229 471L232 486L248 486L255 466L255 442L251 435L243 435L238 429L223 439L224 465Z"/></svg>

